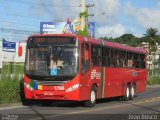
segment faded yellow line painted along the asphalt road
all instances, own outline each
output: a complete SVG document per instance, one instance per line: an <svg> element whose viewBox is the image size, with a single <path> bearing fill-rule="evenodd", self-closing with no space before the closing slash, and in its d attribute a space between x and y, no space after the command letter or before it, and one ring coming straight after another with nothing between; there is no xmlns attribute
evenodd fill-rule
<svg viewBox="0 0 160 120"><path fill-rule="evenodd" d="M160 97L156 97L156 98L151 98L151 99L147 99L147 100L141 100L139 102L135 102L132 104L143 104L143 103L149 103L149 102L154 102L154 101L160 101ZM80 113L87 113L87 112L94 112L94 111L99 111L99 110L104 110L104 109L114 109L114 108L120 108L120 107L126 107L129 106L130 104L123 104L123 105L115 105L115 106L111 106L111 107L101 107L101 108L94 108L94 109L90 109L88 108L87 110L82 110L82 111L77 111L77 112L71 112L71 113L65 113L65 114L61 114L61 115L50 115L44 118L55 118L55 117L62 117L62 116L66 116L66 115L74 115L74 114L80 114ZM38 118L34 118L34 119L30 119L30 120L41 120L42 118L38 117Z"/></svg>

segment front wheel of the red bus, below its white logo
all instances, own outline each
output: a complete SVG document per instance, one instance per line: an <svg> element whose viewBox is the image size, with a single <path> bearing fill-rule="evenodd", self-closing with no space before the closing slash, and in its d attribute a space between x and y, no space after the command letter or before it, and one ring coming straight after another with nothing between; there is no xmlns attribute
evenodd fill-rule
<svg viewBox="0 0 160 120"><path fill-rule="evenodd" d="M90 92L90 99L84 102L85 107L94 107L97 99L97 87L93 86Z"/></svg>

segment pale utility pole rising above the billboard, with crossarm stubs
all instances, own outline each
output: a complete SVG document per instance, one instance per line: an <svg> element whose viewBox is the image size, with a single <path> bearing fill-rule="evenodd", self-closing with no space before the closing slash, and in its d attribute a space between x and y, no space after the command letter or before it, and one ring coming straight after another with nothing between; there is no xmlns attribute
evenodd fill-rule
<svg viewBox="0 0 160 120"><path fill-rule="evenodd" d="M94 4L86 4L85 0L81 0L81 31L84 30L85 26L88 27L88 16L94 16L94 14L88 14L88 8L94 7Z"/></svg>

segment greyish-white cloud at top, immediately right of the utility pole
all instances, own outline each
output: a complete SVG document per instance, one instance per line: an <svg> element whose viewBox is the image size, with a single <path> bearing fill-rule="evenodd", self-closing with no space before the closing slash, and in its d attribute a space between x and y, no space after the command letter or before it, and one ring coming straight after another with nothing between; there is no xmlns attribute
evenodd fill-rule
<svg viewBox="0 0 160 120"><path fill-rule="evenodd" d="M116 15L120 9L119 0L96 0L91 1L95 7L89 9L89 13L94 13L94 17L91 20L95 21L99 25L113 25L116 24ZM105 13L102 15L102 13Z"/></svg>

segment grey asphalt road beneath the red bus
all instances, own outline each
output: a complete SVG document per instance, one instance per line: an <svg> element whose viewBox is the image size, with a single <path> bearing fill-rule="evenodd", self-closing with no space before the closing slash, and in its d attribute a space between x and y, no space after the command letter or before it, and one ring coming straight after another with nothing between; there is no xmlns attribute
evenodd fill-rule
<svg viewBox="0 0 160 120"><path fill-rule="evenodd" d="M55 102L52 106L0 107L0 119L22 120L160 120L160 87L148 87L134 100L98 100L93 108L75 102Z"/></svg>

